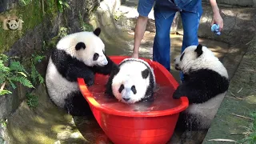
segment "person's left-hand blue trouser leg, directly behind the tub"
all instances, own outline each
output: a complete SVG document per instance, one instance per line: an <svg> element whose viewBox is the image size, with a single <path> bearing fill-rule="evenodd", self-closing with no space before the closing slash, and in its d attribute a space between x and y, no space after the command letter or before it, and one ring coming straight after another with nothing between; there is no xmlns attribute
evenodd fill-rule
<svg viewBox="0 0 256 144"><path fill-rule="evenodd" d="M156 34L153 45L153 61L159 62L170 71L170 26L174 20L174 14L168 18L154 10Z"/></svg>

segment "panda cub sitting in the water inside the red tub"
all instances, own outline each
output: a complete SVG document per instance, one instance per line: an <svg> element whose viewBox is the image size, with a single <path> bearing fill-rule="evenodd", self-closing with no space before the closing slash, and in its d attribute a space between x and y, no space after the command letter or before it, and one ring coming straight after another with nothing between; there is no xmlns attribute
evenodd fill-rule
<svg viewBox="0 0 256 144"><path fill-rule="evenodd" d="M134 103L153 98L154 87L150 65L142 59L126 58L110 74L106 94L124 103Z"/></svg>

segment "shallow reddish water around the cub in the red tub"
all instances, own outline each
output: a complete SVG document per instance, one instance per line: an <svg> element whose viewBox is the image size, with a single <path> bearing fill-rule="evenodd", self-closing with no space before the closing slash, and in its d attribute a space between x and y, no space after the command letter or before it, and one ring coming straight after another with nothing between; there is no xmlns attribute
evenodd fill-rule
<svg viewBox="0 0 256 144"><path fill-rule="evenodd" d="M148 112L148 111L158 111L158 110L168 110L179 105L179 102L175 102L172 99L172 94L174 90L170 86L160 86L157 84L154 90L153 100L136 102L134 104L128 104L123 102L118 102L118 99L112 98L104 94L106 81L108 76L100 76L103 79L101 82L95 80L94 86L90 86L88 89L94 95L95 100L101 105L108 107L110 109L130 111L130 112Z"/></svg>

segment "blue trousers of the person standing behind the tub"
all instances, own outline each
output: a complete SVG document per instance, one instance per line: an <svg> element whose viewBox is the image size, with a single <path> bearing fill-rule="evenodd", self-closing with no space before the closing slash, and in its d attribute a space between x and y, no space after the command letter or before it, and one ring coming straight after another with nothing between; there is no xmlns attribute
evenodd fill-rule
<svg viewBox="0 0 256 144"><path fill-rule="evenodd" d="M154 10L156 34L153 45L153 60L165 66L170 71L170 26L176 11L170 10L169 17L164 17L158 10ZM182 52L187 46L198 45L198 26L202 10L198 14L181 11L183 26ZM180 74L183 79L183 74Z"/></svg>

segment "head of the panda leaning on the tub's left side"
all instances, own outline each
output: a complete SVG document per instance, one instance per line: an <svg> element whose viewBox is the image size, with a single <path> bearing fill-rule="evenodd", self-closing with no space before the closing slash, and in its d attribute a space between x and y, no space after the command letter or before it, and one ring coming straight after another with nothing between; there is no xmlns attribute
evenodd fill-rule
<svg viewBox="0 0 256 144"><path fill-rule="evenodd" d="M108 61L105 55L105 45L99 38L101 29L69 34L62 38L57 45L58 49L65 50L72 57L82 61L86 66L106 66Z"/></svg>

